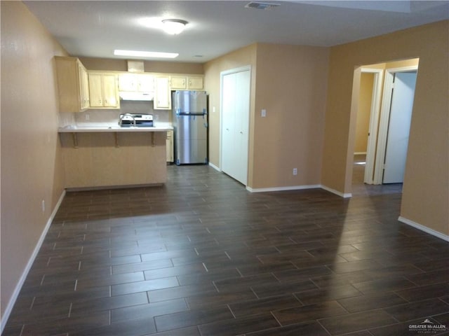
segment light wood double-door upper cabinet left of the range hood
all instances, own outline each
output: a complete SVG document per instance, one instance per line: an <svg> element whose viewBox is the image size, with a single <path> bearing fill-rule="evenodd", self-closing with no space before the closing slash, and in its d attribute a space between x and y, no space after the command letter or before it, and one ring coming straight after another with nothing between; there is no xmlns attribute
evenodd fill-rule
<svg viewBox="0 0 449 336"><path fill-rule="evenodd" d="M93 109L119 109L116 73L88 72L89 95Z"/></svg>

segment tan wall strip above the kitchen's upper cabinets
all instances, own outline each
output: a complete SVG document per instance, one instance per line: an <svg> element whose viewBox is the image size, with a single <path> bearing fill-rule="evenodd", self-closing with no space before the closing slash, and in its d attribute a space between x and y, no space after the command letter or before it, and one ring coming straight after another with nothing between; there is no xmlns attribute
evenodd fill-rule
<svg viewBox="0 0 449 336"><path fill-rule="evenodd" d="M128 71L126 59L79 57L88 70ZM203 74L201 63L143 61L145 72Z"/></svg>

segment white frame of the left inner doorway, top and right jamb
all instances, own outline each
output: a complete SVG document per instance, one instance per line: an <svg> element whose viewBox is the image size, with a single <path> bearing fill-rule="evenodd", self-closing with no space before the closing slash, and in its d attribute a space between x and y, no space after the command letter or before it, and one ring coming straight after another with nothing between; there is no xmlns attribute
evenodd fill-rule
<svg viewBox="0 0 449 336"><path fill-rule="evenodd" d="M370 109L370 125L368 128L368 146L366 148L365 175L363 177L364 183L373 184L384 69L367 68L362 66L361 73L374 73L373 94Z"/></svg>

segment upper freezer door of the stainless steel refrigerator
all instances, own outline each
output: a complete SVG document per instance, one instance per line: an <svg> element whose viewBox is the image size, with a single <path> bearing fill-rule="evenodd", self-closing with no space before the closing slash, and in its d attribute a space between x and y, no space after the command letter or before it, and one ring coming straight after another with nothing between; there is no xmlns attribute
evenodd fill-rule
<svg viewBox="0 0 449 336"><path fill-rule="evenodd" d="M175 91L172 106L176 114L206 114L207 95L203 91Z"/></svg>

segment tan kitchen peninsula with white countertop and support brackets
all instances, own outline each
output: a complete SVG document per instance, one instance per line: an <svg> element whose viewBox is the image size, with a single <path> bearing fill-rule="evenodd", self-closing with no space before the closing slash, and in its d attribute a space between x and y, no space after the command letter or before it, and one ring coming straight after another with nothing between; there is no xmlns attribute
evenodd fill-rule
<svg viewBox="0 0 449 336"><path fill-rule="evenodd" d="M68 125L58 132L65 188L161 185L166 182L166 134L170 126Z"/></svg>

